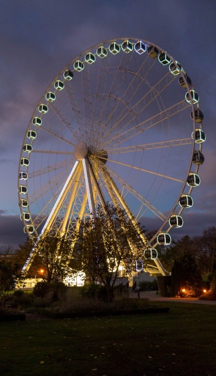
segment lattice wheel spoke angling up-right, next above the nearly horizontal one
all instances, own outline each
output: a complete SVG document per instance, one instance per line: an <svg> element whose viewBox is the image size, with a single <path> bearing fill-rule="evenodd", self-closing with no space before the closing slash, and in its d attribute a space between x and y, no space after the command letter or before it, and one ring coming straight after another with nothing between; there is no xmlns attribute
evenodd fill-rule
<svg viewBox="0 0 216 376"><path fill-rule="evenodd" d="M142 133L143 131L146 131L147 129L152 128L153 126L159 123L162 123L164 120L169 119L171 116L176 115L177 113L179 113L182 110L185 110L188 107L189 107L189 104L188 103L185 104L185 101L182 100L172 105L171 107L166 108L161 112L158 112L156 115L148 119L145 119L144 121L139 122L138 124L135 124L133 127L126 129L120 135L116 135L112 137L106 142L106 145L109 144L110 142L113 142L114 140L116 140L116 144L113 144L113 146L120 145L122 142L125 142L129 140L130 138L134 137L134 131L136 131L135 135L137 136L139 133Z"/></svg>

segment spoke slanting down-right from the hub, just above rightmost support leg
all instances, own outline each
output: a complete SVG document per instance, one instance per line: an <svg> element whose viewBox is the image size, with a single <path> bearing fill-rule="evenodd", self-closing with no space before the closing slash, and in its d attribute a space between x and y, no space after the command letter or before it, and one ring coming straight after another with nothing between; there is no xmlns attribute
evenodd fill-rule
<svg viewBox="0 0 216 376"><path fill-rule="evenodd" d="M139 200L141 204L143 204L147 209L149 209L155 216L160 218L162 221L165 221L166 217L163 213L161 213L157 208L155 208L148 200L146 200L143 196L141 196L131 185L129 185L124 179L122 179L118 174L116 174L110 167L103 166L102 168L107 170L110 176L113 176L119 183L126 188L128 192L130 192L136 199Z"/></svg>

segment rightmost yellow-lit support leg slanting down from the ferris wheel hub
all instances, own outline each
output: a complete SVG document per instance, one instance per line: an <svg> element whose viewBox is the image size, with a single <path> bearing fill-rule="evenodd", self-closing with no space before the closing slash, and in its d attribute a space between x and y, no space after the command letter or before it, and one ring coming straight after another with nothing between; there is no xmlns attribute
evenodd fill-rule
<svg viewBox="0 0 216 376"><path fill-rule="evenodd" d="M131 222L133 223L134 225L134 228L136 229L136 231L138 232L140 238L143 240L143 243L144 243L144 246L145 247L149 247L149 243L145 237L145 235L141 232L135 218L133 217L128 205L126 204L126 202L124 201L124 199L122 198L115 182L113 181L112 177L110 176L110 174L105 170L105 168L103 168L104 170L104 173L105 173L105 176L107 177L107 179L109 180L109 183L113 189L113 192L115 193L116 197L118 198L120 204L122 205L122 207L124 208L124 210L126 211L129 219L131 220ZM161 262L159 261L159 259L154 259L154 262L159 270L159 272L162 274L162 275L167 275L167 272L166 270L163 268Z"/></svg>

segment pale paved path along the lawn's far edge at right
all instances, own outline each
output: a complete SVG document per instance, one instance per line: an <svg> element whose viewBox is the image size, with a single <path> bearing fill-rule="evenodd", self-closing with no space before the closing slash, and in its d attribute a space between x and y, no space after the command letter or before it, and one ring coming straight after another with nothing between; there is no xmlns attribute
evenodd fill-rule
<svg viewBox="0 0 216 376"><path fill-rule="evenodd" d="M140 298L147 298L153 301L160 302L178 302L178 303L195 303L195 304L211 304L216 305L216 300L199 300L198 298L164 298L157 295L156 291L140 291ZM130 298L138 298L138 293L133 292L129 295Z"/></svg>

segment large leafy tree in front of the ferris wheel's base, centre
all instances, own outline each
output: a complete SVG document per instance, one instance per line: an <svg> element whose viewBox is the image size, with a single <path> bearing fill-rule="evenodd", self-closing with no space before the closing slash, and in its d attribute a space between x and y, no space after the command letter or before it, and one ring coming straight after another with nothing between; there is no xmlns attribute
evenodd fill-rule
<svg viewBox="0 0 216 376"><path fill-rule="evenodd" d="M105 211L99 206L97 216L82 224L81 230L78 244L82 271L91 282L105 286L111 302L120 267L128 272L133 259L141 257L143 243L126 212L109 204Z"/></svg>

